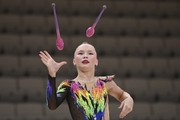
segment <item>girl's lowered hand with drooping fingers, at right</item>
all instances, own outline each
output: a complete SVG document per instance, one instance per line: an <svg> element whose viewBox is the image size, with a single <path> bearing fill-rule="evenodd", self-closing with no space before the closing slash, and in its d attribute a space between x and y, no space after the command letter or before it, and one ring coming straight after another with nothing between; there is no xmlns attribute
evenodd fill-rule
<svg viewBox="0 0 180 120"><path fill-rule="evenodd" d="M130 113L133 109L133 99L132 98L126 98L124 101L122 101L121 105L119 106L119 109L122 108L122 111L119 115L119 118L124 118L128 113Z"/></svg>

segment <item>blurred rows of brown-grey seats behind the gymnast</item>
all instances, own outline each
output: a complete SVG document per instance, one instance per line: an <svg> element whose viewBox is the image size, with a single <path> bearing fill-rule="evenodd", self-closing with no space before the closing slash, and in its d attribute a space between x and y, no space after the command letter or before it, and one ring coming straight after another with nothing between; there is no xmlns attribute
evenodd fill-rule
<svg viewBox="0 0 180 120"><path fill-rule="evenodd" d="M52 3L65 47L55 46ZM102 14L91 38L86 29ZM47 50L66 60L57 86L73 79L75 48L84 41L98 52L96 75L115 82L135 100L124 120L180 120L179 0L0 0L0 120L71 120L66 102L50 111L45 102ZM119 120L110 96L111 120Z"/></svg>

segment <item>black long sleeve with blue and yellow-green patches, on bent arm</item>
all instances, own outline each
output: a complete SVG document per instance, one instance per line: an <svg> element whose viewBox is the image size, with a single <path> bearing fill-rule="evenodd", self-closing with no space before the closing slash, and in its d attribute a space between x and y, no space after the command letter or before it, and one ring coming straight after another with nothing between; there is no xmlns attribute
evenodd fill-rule
<svg viewBox="0 0 180 120"><path fill-rule="evenodd" d="M49 109L56 109L65 99L68 93L68 86L62 82L56 90L56 78L48 75L47 88L46 88L46 103Z"/></svg>

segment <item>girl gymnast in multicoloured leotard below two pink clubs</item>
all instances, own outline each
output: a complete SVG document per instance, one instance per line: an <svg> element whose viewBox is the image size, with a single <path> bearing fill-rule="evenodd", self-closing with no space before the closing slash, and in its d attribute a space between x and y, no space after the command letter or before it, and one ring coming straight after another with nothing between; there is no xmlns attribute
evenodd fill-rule
<svg viewBox="0 0 180 120"><path fill-rule="evenodd" d="M121 103L119 118L132 111L132 97L116 85L113 75L95 76L98 59L91 44L84 42L76 48L73 64L77 77L62 81L57 90L56 73L67 62L54 61L47 51L40 51L39 56L48 69L46 99L49 109L56 109L66 99L73 120L109 120L109 94Z"/></svg>

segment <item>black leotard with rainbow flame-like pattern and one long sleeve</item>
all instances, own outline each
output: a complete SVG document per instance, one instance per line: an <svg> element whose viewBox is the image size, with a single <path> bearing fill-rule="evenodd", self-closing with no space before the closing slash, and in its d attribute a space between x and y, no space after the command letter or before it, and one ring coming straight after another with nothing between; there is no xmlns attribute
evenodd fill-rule
<svg viewBox="0 0 180 120"><path fill-rule="evenodd" d="M102 120L108 99L105 83L113 79L114 76L99 78L91 91L86 84L64 80L56 91L55 78L48 76L47 105L56 109L66 99L73 120Z"/></svg>

